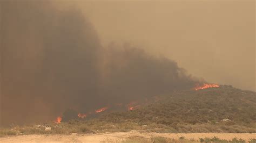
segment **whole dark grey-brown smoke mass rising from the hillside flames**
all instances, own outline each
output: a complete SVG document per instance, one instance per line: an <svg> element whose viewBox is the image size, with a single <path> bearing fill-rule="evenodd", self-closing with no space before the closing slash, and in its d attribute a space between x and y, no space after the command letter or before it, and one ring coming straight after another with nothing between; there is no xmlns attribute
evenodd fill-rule
<svg viewBox="0 0 256 143"><path fill-rule="evenodd" d="M129 45L103 48L76 8L49 2L1 4L2 124L53 120L114 103L189 89L177 63Z"/></svg>

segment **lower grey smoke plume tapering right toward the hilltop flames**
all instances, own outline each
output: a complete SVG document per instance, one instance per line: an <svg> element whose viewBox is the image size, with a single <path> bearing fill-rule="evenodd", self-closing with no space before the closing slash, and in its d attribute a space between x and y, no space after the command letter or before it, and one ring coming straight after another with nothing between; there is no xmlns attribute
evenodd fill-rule
<svg viewBox="0 0 256 143"><path fill-rule="evenodd" d="M107 95L105 101L125 99L125 101L167 94L173 90L189 89L195 81L187 76L177 63L161 57L150 56L139 48L124 45L104 53L103 83ZM117 101L118 102L118 101ZM120 102L120 101L119 101Z"/></svg>

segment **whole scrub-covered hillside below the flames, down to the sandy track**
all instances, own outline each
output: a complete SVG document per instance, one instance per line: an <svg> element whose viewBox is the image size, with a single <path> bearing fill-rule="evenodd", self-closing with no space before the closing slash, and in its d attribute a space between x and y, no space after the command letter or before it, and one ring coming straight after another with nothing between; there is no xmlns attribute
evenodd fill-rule
<svg viewBox="0 0 256 143"><path fill-rule="evenodd" d="M134 107L130 111L106 111L93 118L76 118L59 124L12 125L2 128L0 137L131 130L157 133L256 133L256 93L227 85L197 91L175 91Z"/></svg>

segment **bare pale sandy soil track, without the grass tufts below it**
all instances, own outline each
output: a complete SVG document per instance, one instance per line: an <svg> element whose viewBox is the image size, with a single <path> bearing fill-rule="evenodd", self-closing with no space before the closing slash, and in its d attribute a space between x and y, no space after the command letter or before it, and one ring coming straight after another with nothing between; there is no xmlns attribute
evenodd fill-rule
<svg viewBox="0 0 256 143"><path fill-rule="evenodd" d="M139 133L138 131L102 133L102 134L76 134L71 135L18 135L15 137L2 137L0 142L101 142L106 140L123 140L127 137L140 136L150 138L154 136L174 138L185 137L185 139L213 138L232 140L256 139L256 133Z"/></svg>

